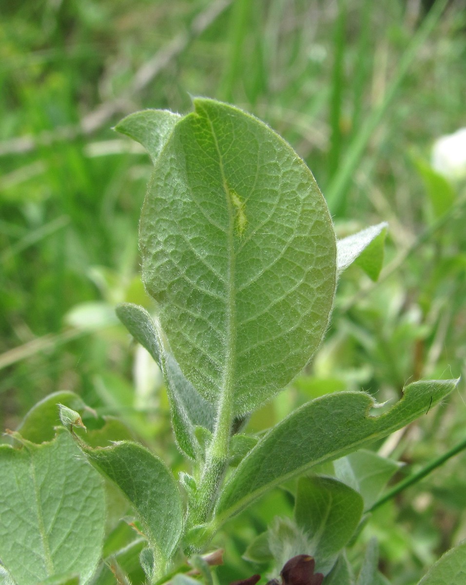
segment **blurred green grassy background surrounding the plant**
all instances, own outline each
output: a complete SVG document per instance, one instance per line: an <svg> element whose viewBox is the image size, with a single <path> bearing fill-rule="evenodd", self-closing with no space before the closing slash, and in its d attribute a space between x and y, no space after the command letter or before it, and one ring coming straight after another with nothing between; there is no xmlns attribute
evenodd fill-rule
<svg viewBox="0 0 466 585"><path fill-rule="evenodd" d="M340 236L390 226L381 281L357 267L344 274L315 363L251 428L327 391L385 399L407 381L464 374L465 186L425 170L433 140L466 125L466 6L445 5L2 2L0 427L73 390L181 464L160 382L147 381L150 364L113 314L120 301L151 307L137 250L151 166L111 128L137 109L188 112L190 95L231 102L281 133L315 174ZM464 438L464 395L460 384L393 456L415 470ZM368 535L393 583L415 583L466 537L465 464L456 457L375 515ZM266 504L231 525L223 580L248 571L240 555L267 523Z"/></svg>

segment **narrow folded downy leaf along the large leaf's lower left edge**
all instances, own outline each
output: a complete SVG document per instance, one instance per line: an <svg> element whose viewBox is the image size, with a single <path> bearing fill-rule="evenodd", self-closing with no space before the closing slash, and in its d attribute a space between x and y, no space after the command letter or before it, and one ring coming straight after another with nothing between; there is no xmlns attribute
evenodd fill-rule
<svg viewBox="0 0 466 585"><path fill-rule="evenodd" d="M213 430L215 411L183 376L180 366L167 348L157 321L143 307L125 303L116 314L127 330L156 360L163 372L172 413L172 425L178 446L195 459L198 449L195 427Z"/></svg>

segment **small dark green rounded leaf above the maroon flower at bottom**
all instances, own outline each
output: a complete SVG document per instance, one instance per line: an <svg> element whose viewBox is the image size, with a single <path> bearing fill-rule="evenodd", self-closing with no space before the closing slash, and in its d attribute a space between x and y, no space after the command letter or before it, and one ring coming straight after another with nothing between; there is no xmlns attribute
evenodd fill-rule
<svg viewBox="0 0 466 585"><path fill-rule="evenodd" d="M353 536L363 515L363 498L332 477L301 477L295 521L311 538L310 553L320 566Z"/></svg>

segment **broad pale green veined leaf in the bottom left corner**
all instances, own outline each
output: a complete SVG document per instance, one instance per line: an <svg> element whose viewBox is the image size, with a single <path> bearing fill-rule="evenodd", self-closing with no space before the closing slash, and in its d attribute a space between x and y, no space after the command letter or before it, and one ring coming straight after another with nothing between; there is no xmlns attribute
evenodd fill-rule
<svg viewBox="0 0 466 585"><path fill-rule="evenodd" d="M102 478L66 432L42 445L22 442L0 446L2 563L16 585L65 574L87 583L101 557Z"/></svg>

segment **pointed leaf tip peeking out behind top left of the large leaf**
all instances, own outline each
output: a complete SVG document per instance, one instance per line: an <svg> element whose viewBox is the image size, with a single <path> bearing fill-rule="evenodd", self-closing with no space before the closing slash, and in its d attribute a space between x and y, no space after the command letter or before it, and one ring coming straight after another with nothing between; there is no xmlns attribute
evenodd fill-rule
<svg viewBox="0 0 466 585"><path fill-rule="evenodd" d="M181 116L177 113L147 109L126 116L114 129L142 144L155 163L180 119Z"/></svg>

